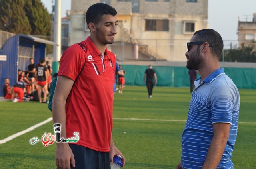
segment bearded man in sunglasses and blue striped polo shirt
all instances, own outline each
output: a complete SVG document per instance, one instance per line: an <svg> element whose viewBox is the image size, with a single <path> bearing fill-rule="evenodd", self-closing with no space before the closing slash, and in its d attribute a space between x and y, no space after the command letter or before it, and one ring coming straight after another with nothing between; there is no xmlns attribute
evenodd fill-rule
<svg viewBox="0 0 256 169"><path fill-rule="evenodd" d="M240 97L219 65L222 37L203 29L194 33L187 47L187 68L198 70L201 77L194 82L177 169L232 169Z"/></svg>

